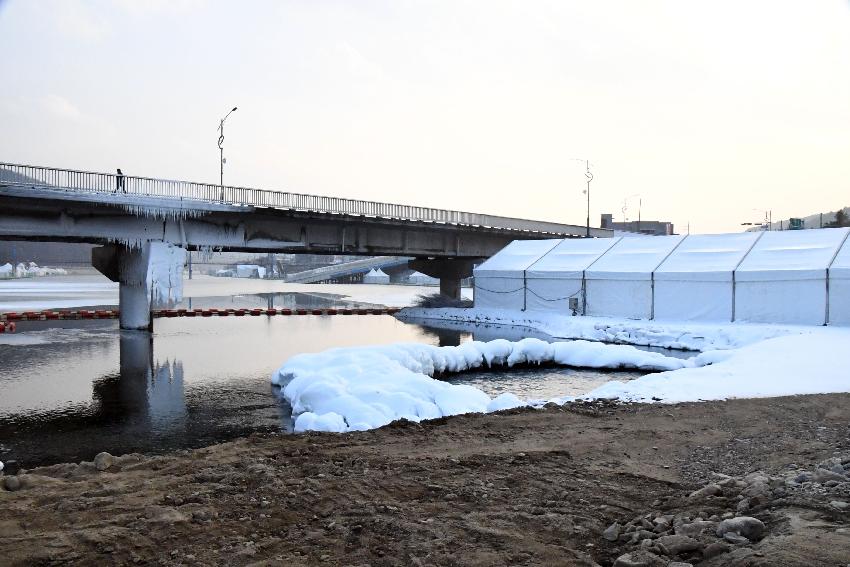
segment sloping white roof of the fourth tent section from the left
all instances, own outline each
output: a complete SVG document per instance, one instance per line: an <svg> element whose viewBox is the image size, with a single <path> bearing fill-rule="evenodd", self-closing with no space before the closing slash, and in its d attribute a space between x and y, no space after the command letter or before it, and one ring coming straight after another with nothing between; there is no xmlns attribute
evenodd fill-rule
<svg viewBox="0 0 850 567"><path fill-rule="evenodd" d="M656 280L725 280L763 232L691 234L655 271Z"/></svg>

